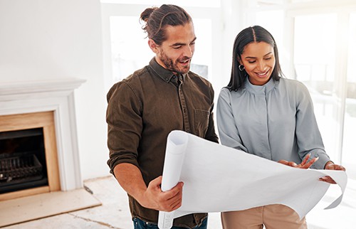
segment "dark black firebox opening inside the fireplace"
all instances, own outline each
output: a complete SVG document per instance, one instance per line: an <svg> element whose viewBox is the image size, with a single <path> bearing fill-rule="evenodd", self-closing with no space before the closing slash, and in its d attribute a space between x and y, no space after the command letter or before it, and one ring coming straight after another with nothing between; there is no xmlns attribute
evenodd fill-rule
<svg viewBox="0 0 356 229"><path fill-rule="evenodd" d="M0 194L47 185L43 128L0 132Z"/></svg>

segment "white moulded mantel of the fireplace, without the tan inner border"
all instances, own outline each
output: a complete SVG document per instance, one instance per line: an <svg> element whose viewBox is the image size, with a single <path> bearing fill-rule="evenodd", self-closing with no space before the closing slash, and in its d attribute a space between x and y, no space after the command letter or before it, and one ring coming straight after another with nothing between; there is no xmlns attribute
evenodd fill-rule
<svg viewBox="0 0 356 229"><path fill-rule="evenodd" d="M74 104L74 90L83 82L60 78L0 83L0 115L53 111L62 191L83 186Z"/></svg>

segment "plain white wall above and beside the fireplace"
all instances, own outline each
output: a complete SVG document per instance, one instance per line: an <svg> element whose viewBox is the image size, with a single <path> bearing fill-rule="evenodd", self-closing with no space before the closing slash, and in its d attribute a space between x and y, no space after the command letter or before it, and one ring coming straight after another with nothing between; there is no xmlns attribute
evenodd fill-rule
<svg viewBox="0 0 356 229"><path fill-rule="evenodd" d="M82 179L108 175L99 0L0 0L0 83L80 78Z"/></svg>

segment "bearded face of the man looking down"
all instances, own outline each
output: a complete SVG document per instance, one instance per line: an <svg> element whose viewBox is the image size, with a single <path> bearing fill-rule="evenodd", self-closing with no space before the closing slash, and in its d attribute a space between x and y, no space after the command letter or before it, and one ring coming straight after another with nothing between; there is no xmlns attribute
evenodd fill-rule
<svg viewBox="0 0 356 229"><path fill-rule="evenodd" d="M196 40L193 23L167 26L166 36L167 40L161 46L155 45L152 48L150 44L156 53L157 62L174 73L188 73Z"/></svg>

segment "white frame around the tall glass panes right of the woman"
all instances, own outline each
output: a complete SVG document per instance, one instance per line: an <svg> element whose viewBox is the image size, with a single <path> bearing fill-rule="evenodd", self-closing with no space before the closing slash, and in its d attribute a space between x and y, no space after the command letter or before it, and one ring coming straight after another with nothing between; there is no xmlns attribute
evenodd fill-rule
<svg viewBox="0 0 356 229"><path fill-rule="evenodd" d="M284 26L283 26L283 48L286 53L290 53L288 63L283 68L283 72L288 75L288 78L294 77L294 23L297 16L308 16L315 14L337 14L337 34L348 34L350 29L350 15L356 12L356 2L350 0L325 0L325 1L303 1L293 3L292 1L278 1L278 4L260 4L262 1L256 1L255 4L248 4L246 7L248 11L255 14L255 17L249 16L244 18L244 23L254 24L253 18L256 18L256 14L259 11L276 11L283 10L285 12ZM271 3L271 1L269 1ZM348 36L339 36L340 40L336 41L335 55L335 97L337 99L337 109L335 112L335 118L337 119L337 158L333 158L333 161L337 164L342 163L342 142L345 127L345 106L347 100L347 63L348 63ZM278 47L281 49L281 47ZM356 179L356 171L350 171L351 179Z"/></svg>

